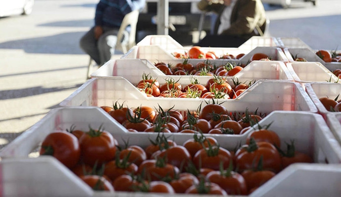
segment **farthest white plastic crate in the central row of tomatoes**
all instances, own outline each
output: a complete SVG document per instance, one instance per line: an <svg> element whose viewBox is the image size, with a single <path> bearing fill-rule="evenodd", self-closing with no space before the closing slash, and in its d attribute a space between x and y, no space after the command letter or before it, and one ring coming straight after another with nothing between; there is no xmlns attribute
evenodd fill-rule
<svg viewBox="0 0 341 197"><path fill-rule="evenodd" d="M174 40L170 35L147 35L137 46L159 45L166 49L168 52L172 50L184 48L180 43ZM239 50L251 51L258 46L281 46L275 37L252 36L246 42L238 47ZM187 47L188 48L188 47ZM205 48L205 47L204 47Z"/></svg>

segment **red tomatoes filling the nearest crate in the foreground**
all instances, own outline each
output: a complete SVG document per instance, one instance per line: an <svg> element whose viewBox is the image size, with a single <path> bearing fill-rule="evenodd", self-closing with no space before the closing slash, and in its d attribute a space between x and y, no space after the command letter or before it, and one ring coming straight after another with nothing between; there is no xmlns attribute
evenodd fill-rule
<svg viewBox="0 0 341 197"><path fill-rule="evenodd" d="M280 170L309 156L280 150L276 132L259 128L246 144L229 151L215 138L195 133L183 144L160 134L145 146L119 146L101 129L56 131L47 135L41 155L52 155L99 191L248 195ZM67 151L66 151L67 150Z"/></svg>

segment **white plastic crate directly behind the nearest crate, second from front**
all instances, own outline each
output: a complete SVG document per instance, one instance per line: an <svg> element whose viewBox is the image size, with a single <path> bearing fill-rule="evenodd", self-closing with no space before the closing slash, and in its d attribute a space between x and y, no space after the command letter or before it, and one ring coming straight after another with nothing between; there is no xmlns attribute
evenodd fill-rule
<svg viewBox="0 0 341 197"><path fill-rule="evenodd" d="M125 101L129 107L148 105L158 108L196 110L205 99L147 97L138 91L127 79L93 78L85 82L71 96L63 100L60 106L102 106L112 105L116 100ZM206 99L207 101L210 99ZM294 82L259 80L236 99L218 99L230 112L245 112L248 108L259 112L270 113L274 110L317 112L303 88Z"/></svg>

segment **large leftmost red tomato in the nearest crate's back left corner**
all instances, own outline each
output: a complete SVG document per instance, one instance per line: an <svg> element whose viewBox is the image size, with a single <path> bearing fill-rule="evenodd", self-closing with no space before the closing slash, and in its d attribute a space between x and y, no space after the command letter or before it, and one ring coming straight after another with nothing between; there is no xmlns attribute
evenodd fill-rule
<svg viewBox="0 0 341 197"><path fill-rule="evenodd" d="M39 154L53 156L60 163L72 168L80 159L81 149L75 135L67 131L56 131L45 137Z"/></svg>

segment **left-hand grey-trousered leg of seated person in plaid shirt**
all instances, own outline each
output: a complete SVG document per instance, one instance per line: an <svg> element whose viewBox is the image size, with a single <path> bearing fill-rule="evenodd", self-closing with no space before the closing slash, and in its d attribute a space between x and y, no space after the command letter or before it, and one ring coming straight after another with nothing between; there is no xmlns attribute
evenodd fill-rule
<svg viewBox="0 0 341 197"><path fill-rule="evenodd" d="M87 53L97 65L100 64L99 52L97 49L97 40L93 32L94 28L91 28L80 40L81 49Z"/></svg>

